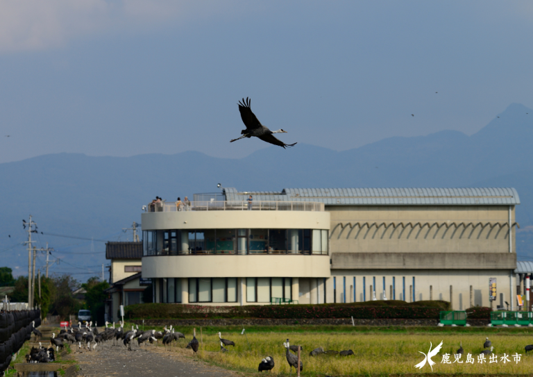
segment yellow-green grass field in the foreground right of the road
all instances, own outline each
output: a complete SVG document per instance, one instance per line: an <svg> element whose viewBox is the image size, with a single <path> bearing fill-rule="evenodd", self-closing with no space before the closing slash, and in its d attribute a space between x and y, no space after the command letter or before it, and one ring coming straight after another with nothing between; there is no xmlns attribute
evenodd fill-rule
<svg viewBox="0 0 533 377"><path fill-rule="evenodd" d="M245 374L257 373L257 365L262 358L272 356L276 367L275 375L289 374L282 343L288 337L291 344L303 346L303 376L380 376L388 374L428 374L432 373L428 364L423 369L414 365L421 362L428 353L430 342L437 346L443 341L443 347L434 356L434 374L530 374L533 371L533 353L525 355L524 346L533 344L533 332L530 328L357 328L350 326L307 326L306 328L262 328L250 327L246 337L240 334L241 328L203 328L196 329L196 338L203 340L198 358L214 365L242 371ZM328 328L332 327L332 328ZM187 341L180 340L179 346L172 351L183 355L192 355L185 345L192 338L192 328L176 329L185 333ZM228 346L230 352L221 353L217 331L222 337L235 342L235 349ZM498 362L483 364L477 361L482 351L485 337L489 337L498 355ZM462 364L453 363L453 354L462 342L464 355ZM351 349L355 355L348 357L326 356L310 357L312 349L323 347L325 350L342 351ZM442 364L443 353L450 354L452 364ZM466 364L466 354L471 353L473 364ZM510 362L505 364L501 357L506 353ZM521 354L521 361L516 363L512 357ZM294 374L294 369L293 369Z"/></svg>

